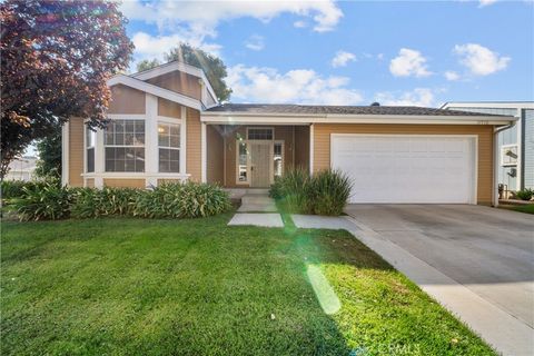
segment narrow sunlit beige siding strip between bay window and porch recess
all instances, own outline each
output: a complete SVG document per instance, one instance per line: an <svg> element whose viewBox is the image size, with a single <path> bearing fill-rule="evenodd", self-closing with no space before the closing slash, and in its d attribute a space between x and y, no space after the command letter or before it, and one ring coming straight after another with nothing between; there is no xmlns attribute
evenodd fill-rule
<svg viewBox="0 0 534 356"><path fill-rule="evenodd" d="M194 181L201 180L201 123L200 112L195 109L187 108L187 172Z"/></svg>

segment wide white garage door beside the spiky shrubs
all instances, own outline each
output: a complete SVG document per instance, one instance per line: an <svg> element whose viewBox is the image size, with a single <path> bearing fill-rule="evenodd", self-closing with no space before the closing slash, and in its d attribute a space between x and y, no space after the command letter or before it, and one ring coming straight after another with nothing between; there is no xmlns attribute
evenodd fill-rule
<svg viewBox="0 0 534 356"><path fill-rule="evenodd" d="M476 204L474 137L333 134L330 154L349 202Z"/></svg>

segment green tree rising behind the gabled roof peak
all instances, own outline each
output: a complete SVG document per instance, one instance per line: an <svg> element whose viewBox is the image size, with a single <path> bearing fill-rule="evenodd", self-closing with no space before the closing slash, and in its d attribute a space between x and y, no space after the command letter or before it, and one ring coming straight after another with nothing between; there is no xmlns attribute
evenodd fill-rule
<svg viewBox="0 0 534 356"><path fill-rule="evenodd" d="M226 66L220 58L188 43L179 43L176 48L172 48L165 53L165 60L168 62L178 60L201 68L208 77L217 99L219 99L219 101L226 101L230 98L231 89L228 88L225 82L225 78L228 73L226 71ZM157 59L146 59L137 65L137 70L144 71L159 65L160 63Z"/></svg>

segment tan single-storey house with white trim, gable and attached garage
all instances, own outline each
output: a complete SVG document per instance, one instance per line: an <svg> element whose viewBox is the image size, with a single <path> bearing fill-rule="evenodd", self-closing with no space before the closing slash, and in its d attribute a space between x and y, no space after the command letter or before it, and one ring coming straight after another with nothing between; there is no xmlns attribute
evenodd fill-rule
<svg viewBox="0 0 534 356"><path fill-rule="evenodd" d="M63 127L63 182L191 179L267 188L293 167L344 170L352 202L495 201L494 130L516 119L418 107L219 105L205 73L171 62L108 81L111 123Z"/></svg>

